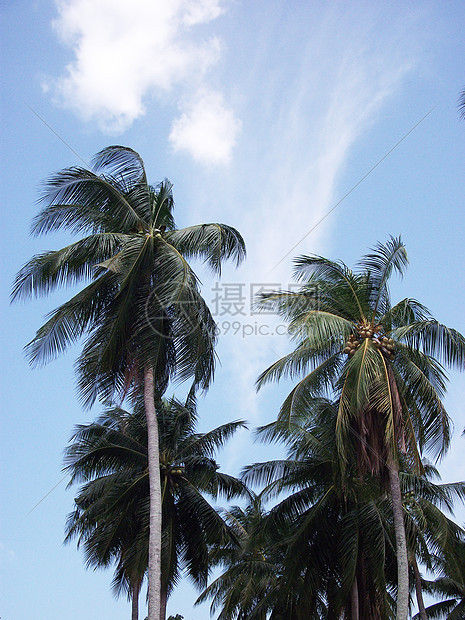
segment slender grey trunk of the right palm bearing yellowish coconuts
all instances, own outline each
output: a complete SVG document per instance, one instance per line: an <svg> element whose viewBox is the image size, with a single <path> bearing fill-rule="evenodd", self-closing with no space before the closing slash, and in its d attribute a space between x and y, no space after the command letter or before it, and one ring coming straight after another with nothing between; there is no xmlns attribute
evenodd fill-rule
<svg viewBox="0 0 465 620"><path fill-rule="evenodd" d="M407 620L409 603L408 555L405 536L404 510L399 481L399 466L392 454L388 456L389 485L396 535L397 554L397 615L396 620Z"/></svg>

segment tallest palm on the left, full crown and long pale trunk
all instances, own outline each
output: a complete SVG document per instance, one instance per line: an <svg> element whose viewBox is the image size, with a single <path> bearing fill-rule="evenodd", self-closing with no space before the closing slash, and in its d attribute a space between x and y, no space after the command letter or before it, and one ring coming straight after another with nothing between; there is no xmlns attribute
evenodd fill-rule
<svg viewBox="0 0 465 620"><path fill-rule="evenodd" d="M149 620L160 610L161 488L157 407L172 379L207 389L214 371L215 323L187 259L216 273L239 263L245 247L223 224L175 227L172 187L153 187L135 151L111 146L93 169L73 167L45 185L35 234L68 229L86 236L33 257L18 273L13 299L48 294L90 279L59 306L29 343L32 363L46 362L86 335L77 362L87 406L96 398L145 397L149 437ZM155 398L154 398L155 396Z"/></svg>

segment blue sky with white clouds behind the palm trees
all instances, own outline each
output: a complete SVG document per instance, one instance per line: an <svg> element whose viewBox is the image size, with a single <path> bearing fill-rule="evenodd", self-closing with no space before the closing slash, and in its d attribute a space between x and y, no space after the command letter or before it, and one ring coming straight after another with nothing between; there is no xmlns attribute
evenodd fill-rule
<svg viewBox="0 0 465 620"><path fill-rule="evenodd" d="M174 184L178 226L220 221L241 231L248 259L239 270L226 268L218 284L199 266L222 332L221 366L199 402L200 427L271 421L291 384L257 395L254 382L291 345L273 333L282 331L274 317L253 314L251 294L288 287L298 254L355 265L377 241L402 235L410 267L393 282L393 299L417 298L465 332L465 121L457 111L465 7L451 0L2 0L0 10L0 616L122 620L130 607L113 598L111 573L86 571L75 547L62 545L73 502L63 448L75 424L100 412L78 404L79 349L40 369L22 352L72 291L9 305L17 270L69 239L29 236L41 182L122 144L141 154L153 183L168 177ZM440 464L443 481L462 480L465 471L465 381L450 377L455 431ZM241 432L218 461L237 474L279 455ZM463 507L456 518L465 522ZM208 618L208 607L192 609L195 597L180 587L168 612Z"/></svg>

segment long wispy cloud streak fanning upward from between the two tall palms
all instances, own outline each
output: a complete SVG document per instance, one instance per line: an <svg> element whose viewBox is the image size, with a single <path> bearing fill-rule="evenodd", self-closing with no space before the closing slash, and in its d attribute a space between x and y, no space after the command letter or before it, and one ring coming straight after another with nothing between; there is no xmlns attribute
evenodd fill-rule
<svg viewBox="0 0 465 620"><path fill-rule="evenodd" d="M391 24L382 34L375 29L374 36L370 16L360 10L346 15L328 12L322 11L320 20L307 29L299 23L298 15L289 17L298 33L293 41L293 49L299 50L298 62L295 53L282 54L289 23L280 40L274 25L265 22L269 39L262 33L264 49L255 57L259 61L251 62L250 73L240 76L248 94L241 158L234 162L236 184L230 193L223 191L221 204L228 213L227 222L238 226L248 245L247 263L237 274L228 274L224 282L242 283L244 292L258 283L287 288L291 284L291 259L300 253L344 258L330 248L336 211L273 269L349 189L338 187L338 183L354 144L370 130L383 106L393 101L415 66L415 56L408 53L410 44L402 37L399 24ZM354 24L358 29L352 27ZM268 73L270 66L272 75ZM406 129L401 126L396 137ZM379 155L394 141L381 144ZM351 185L358 180L352 179ZM210 194L213 192L210 188ZM200 219L209 218L211 202L205 201L205 205L205 213L198 214ZM355 238L355 226L353 234ZM223 290L226 295L227 289ZM208 299L208 293L206 296ZM222 339L221 351L221 376L227 379L220 379L213 389L231 394L234 415L239 411L252 425L258 425L276 416L291 382L266 386L257 396L255 380L267 366L291 351L292 344L282 329L277 333L276 324L281 321L251 315L250 300L244 310L243 316L217 317L220 327L227 328L229 321L230 331ZM231 333L236 329L233 325L240 325L236 335ZM262 333L260 325L264 326ZM224 401L229 402L228 397ZM250 460L255 451L250 437L241 436L227 456L231 464L240 463Z"/></svg>

